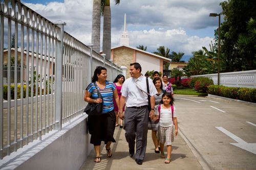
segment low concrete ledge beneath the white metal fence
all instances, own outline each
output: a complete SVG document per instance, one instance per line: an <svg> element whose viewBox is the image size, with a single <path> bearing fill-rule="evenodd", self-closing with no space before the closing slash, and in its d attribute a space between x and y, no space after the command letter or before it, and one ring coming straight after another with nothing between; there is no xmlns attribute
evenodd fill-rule
<svg viewBox="0 0 256 170"><path fill-rule="evenodd" d="M0 169L79 169L93 145L87 114L74 118L61 131L50 131L0 160Z"/></svg>

